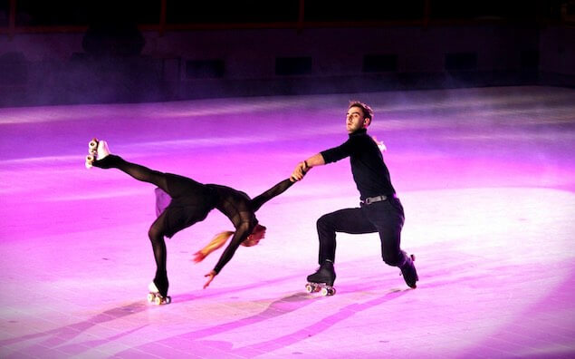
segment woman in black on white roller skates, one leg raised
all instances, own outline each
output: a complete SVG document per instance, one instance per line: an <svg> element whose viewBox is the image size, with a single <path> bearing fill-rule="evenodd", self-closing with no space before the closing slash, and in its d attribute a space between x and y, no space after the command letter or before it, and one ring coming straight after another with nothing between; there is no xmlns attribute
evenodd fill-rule
<svg viewBox="0 0 575 359"><path fill-rule="evenodd" d="M254 199L250 199L244 192L229 187L202 184L194 179L150 170L139 164L130 163L120 156L110 154L106 141L93 139L89 144L89 152L90 155L86 157L87 168L92 166L101 169L115 168L128 173L134 179L158 186L156 190L157 207L159 208L157 210L158 218L148 232L157 266L156 276L149 285L149 301L154 301L156 304L170 302L164 237L171 238L178 231L204 220L212 209L218 209L232 221L235 232L224 232L216 236L210 244L195 255L194 260L196 262L201 261L213 250L223 246L227 237L232 237L216 267L206 274L208 277L204 285L206 288L234 256L237 247L241 244L246 247L254 246L264 238L265 227L258 224L255 211L260 209L268 200L289 189L296 181L292 178L284 179L273 188L266 190ZM161 197L165 194L169 196L167 207L159 204ZM168 201L164 202L167 203Z"/></svg>

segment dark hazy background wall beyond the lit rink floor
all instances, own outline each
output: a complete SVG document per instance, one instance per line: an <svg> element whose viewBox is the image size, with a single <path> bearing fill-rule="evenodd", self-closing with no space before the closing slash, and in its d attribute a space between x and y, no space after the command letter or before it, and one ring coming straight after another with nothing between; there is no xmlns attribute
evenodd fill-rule
<svg viewBox="0 0 575 359"><path fill-rule="evenodd" d="M0 0L0 106L575 85L575 1Z"/></svg>

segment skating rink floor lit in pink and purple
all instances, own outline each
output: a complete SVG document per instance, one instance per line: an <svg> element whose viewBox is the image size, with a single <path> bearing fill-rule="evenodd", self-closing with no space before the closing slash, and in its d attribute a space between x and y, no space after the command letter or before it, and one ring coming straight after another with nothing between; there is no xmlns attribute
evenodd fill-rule
<svg viewBox="0 0 575 359"><path fill-rule="evenodd" d="M153 186L86 170L87 142L251 196L347 137L350 99L406 208L409 290L377 235L340 235L336 296L308 295L315 221L358 204L350 164L311 170L258 212L202 289L231 228L216 210L168 240L173 303L150 306ZM575 357L575 90L503 87L0 109L2 358Z"/></svg>

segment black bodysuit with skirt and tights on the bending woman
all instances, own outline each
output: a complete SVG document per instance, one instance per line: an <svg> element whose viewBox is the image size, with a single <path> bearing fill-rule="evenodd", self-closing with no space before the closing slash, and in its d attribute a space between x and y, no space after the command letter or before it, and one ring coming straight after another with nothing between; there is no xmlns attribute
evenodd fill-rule
<svg viewBox="0 0 575 359"><path fill-rule="evenodd" d="M212 209L218 209L234 224L234 237L225 248L224 253L214 267L216 273L234 256L237 247L247 238L257 225L255 211L275 196L289 189L293 182L284 179L273 188L250 199L242 191L216 184L202 184L194 179L171 173L150 170L136 163L130 163L120 156L109 155L93 162L102 169L116 168L128 173L134 179L149 182L171 198L166 209L149 228L149 240L156 259L156 276L154 284L162 296L168 295L168 273L166 271L166 243L164 237L171 238L178 231L204 220Z"/></svg>

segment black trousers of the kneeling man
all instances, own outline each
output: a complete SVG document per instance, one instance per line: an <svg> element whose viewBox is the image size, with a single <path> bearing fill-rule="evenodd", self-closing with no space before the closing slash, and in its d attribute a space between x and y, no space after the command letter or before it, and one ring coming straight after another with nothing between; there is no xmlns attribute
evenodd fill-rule
<svg viewBox="0 0 575 359"><path fill-rule="evenodd" d="M401 228L405 220L401 202L388 198L356 209L340 209L318 219L320 265L326 259L335 261L335 233L379 232L381 257L389 266L404 264L406 255L400 249Z"/></svg>

